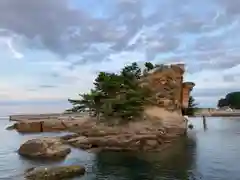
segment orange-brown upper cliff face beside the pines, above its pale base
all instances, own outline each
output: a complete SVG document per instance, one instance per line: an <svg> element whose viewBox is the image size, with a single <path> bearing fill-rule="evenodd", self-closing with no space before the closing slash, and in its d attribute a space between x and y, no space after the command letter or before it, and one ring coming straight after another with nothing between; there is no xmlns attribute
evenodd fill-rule
<svg viewBox="0 0 240 180"><path fill-rule="evenodd" d="M188 106L194 83L183 82L184 64L164 65L143 77L142 86L152 90L151 102L168 111L178 111Z"/></svg>

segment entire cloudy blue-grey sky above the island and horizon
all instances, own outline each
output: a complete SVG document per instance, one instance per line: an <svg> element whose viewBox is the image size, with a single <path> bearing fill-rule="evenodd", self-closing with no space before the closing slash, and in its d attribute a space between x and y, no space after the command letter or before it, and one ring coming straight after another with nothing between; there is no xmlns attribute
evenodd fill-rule
<svg viewBox="0 0 240 180"><path fill-rule="evenodd" d="M200 107L240 90L239 0L1 0L0 114L58 112L99 71L184 62Z"/></svg>

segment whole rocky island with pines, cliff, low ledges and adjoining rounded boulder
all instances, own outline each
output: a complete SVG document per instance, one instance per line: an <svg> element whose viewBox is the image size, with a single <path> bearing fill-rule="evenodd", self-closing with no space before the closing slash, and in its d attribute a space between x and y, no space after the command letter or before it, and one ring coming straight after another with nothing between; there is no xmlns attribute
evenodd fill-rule
<svg viewBox="0 0 240 180"><path fill-rule="evenodd" d="M94 152L163 150L187 130L183 113L194 83L183 81L184 72L184 64L149 62L144 70L133 63L119 74L101 72L90 93L69 100L73 108L68 113L11 117L17 122L9 129L20 133L69 132L60 138L29 140L19 154L65 158L70 153L65 145Z"/></svg>

